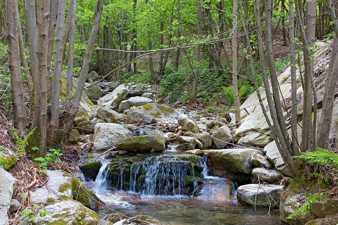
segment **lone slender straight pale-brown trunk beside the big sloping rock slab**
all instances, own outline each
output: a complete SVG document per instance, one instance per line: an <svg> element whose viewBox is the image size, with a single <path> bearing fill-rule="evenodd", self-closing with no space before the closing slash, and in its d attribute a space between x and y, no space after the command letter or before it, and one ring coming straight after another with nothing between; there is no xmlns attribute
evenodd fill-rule
<svg viewBox="0 0 338 225"><path fill-rule="evenodd" d="M233 79L233 89L234 89L236 127L238 127L241 124L241 112L240 112L238 82L237 82L237 6L238 6L238 1L234 0L233 36L232 36L232 58L233 58L232 79Z"/></svg>

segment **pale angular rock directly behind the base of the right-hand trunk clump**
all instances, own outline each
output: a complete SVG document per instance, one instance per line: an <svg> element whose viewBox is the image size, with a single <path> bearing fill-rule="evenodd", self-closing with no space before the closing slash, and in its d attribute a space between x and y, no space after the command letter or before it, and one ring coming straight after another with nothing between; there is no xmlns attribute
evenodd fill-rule
<svg viewBox="0 0 338 225"><path fill-rule="evenodd" d="M292 174L289 172L286 165L284 164L282 155L281 153L279 153L277 145L274 141L266 145L263 151L265 152L268 160L276 167L278 171L287 176L292 176Z"/></svg>

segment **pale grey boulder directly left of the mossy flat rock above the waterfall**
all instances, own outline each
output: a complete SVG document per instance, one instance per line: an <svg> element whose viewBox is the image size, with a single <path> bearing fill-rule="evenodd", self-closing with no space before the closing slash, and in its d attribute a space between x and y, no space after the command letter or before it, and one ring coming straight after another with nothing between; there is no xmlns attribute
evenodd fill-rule
<svg viewBox="0 0 338 225"><path fill-rule="evenodd" d="M131 138L133 134L118 123L97 123L94 132L94 151L105 151L115 147L119 140Z"/></svg>

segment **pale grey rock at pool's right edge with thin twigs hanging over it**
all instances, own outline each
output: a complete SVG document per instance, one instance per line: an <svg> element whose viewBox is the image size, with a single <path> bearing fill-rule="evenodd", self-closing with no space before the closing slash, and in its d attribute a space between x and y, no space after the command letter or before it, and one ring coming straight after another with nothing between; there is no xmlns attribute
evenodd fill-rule
<svg viewBox="0 0 338 225"><path fill-rule="evenodd" d="M237 200L246 205L278 207L282 188L281 185L242 185L237 189Z"/></svg>

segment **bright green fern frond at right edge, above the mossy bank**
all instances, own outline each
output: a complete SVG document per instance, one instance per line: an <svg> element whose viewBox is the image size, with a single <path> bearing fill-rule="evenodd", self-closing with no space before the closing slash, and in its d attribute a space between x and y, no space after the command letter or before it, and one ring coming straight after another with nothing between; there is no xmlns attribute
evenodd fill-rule
<svg viewBox="0 0 338 225"><path fill-rule="evenodd" d="M300 156L294 156L292 158L303 159L308 163L318 163L320 166L328 165L333 168L338 168L338 155L322 148L317 148L316 151L301 152Z"/></svg>

